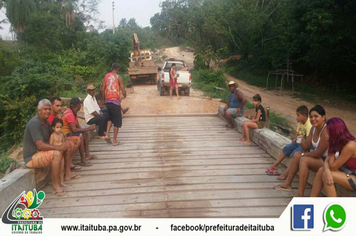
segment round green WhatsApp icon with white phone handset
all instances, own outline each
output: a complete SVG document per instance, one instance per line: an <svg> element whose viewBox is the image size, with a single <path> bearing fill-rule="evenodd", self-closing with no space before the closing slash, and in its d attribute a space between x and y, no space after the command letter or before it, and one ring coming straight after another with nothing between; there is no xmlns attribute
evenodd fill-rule
<svg viewBox="0 0 356 236"><path fill-rule="evenodd" d="M346 211L340 204L330 204L324 210L324 231L339 231L346 223Z"/></svg>

